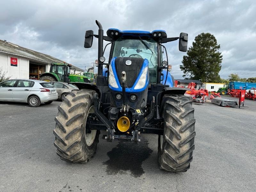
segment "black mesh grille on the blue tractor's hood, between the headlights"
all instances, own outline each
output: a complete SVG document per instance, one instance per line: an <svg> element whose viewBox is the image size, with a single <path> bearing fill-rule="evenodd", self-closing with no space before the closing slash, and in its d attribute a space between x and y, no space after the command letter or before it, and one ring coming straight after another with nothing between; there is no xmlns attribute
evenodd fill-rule
<svg viewBox="0 0 256 192"><path fill-rule="evenodd" d="M131 65L126 65L125 62L127 60L132 61ZM116 66L116 73L119 80L119 83L122 85L122 72L125 71L126 73L126 86L131 88L132 85L135 83L144 59L136 58L136 57L117 57L115 60Z"/></svg>

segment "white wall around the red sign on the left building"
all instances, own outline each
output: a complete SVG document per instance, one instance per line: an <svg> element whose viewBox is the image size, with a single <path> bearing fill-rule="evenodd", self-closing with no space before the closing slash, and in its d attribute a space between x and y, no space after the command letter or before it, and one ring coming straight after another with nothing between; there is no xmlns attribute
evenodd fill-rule
<svg viewBox="0 0 256 192"><path fill-rule="evenodd" d="M11 57L18 59L18 66L11 66ZM3 71L7 71L7 76L11 79L28 79L29 72L29 60L12 55L5 55L0 53L0 67L3 67Z"/></svg>

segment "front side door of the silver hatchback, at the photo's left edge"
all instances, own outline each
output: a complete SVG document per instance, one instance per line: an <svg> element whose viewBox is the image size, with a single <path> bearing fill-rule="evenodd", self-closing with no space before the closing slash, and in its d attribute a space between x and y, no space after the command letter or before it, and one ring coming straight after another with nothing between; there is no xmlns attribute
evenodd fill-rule
<svg viewBox="0 0 256 192"><path fill-rule="evenodd" d="M7 80L0 83L0 100L12 101L12 92L17 80Z"/></svg>

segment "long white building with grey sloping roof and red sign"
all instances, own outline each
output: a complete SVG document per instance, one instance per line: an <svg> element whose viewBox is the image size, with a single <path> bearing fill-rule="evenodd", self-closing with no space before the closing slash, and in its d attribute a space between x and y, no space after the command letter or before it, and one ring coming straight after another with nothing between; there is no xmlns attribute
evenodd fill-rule
<svg viewBox="0 0 256 192"><path fill-rule="evenodd" d="M64 61L0 40L0 68L7 71L7 76L12 79L39 79L42 73L49 72L51 63L64 63ZM71 74L82 75L83 72L83 69L76 66L70 69Z"/></svg>

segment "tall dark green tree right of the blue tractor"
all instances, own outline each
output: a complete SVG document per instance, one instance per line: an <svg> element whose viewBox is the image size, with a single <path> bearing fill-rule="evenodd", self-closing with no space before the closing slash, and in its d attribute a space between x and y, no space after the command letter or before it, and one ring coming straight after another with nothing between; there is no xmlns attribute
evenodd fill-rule
<svg viewBox="0 0 256 192"><path fill-rule="evenodd" d="M187 55L183 56L180 69L190 79L201 79L202 82L217 82L220 79L222 55L218 50L220 44L214 35L201 33L195 37Z"/></svg>

